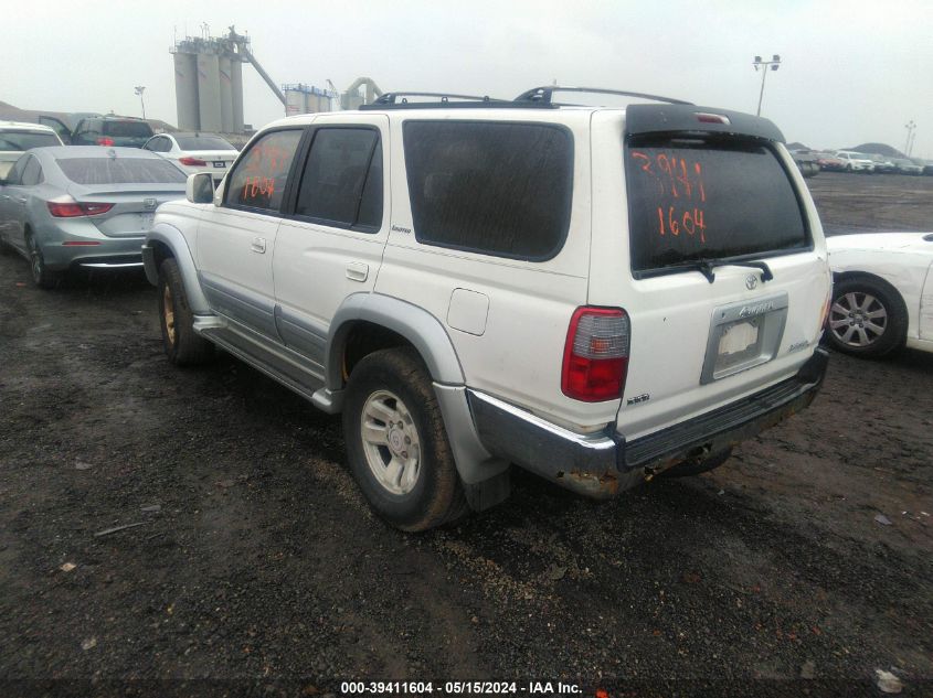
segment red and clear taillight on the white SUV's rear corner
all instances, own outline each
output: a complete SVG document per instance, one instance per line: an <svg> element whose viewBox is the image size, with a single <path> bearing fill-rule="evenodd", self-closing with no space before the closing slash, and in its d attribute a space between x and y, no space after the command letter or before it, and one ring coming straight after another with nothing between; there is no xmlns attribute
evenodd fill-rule
<svg viewBox="0 0 933 698"><path fill-rule="evenodd" d="M618 308L577 308L564 345L561 390L584 402L615 400L625 389L632 324Z"/></svg>

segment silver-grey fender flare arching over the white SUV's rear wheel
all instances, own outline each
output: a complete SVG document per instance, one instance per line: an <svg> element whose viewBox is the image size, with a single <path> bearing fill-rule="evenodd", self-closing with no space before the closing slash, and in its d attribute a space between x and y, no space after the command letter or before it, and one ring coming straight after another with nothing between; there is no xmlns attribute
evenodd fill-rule
<svg viewBox="0 0 933 698"><path fill-rule="evenodd" d="M327 339L327 387L343 387L343 346L356 321L371 322L405 337L424 358L431 377L442 385L464 385L464 372L450 337L441 322L426 310L391 296L353 293L333 315Z"/></svg>

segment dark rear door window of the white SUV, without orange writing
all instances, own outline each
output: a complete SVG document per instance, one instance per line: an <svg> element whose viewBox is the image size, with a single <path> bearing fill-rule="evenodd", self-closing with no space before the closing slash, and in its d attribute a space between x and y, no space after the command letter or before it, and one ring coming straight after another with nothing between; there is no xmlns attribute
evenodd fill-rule
<svg viewBox="0 0 933 698"><path fill-rule="evenodd" d="M339 227L378 229L382 223L379 131L318 129L301 174L295 215Z"/></svg>

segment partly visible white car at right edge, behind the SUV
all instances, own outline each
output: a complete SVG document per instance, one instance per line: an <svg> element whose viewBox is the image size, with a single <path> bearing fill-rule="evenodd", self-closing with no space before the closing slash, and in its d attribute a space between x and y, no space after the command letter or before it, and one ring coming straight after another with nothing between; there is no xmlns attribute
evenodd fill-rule
<svg viewBox="0 0 933 698"><path fill-rule="evenodd" d="M840 352L933 352L933 233L868 233L826 240L833 304L826 337Z"/></svg>

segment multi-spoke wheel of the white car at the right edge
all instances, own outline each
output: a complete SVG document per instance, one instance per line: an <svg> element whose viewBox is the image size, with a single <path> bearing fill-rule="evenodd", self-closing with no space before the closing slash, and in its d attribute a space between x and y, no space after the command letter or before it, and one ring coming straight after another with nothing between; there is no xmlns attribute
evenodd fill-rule
<svg viewBox="0 0 933 698"><path fill-rule="evenodd" d="M901 346L907 330L903 299L887 281L855 277L834 286L826 321L826 339L833 348L878 358Z"/></svg>

